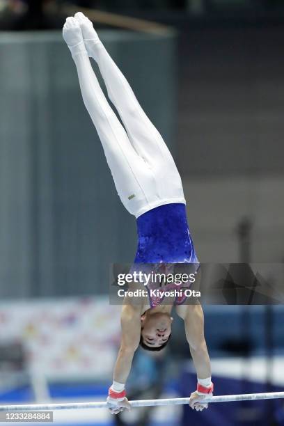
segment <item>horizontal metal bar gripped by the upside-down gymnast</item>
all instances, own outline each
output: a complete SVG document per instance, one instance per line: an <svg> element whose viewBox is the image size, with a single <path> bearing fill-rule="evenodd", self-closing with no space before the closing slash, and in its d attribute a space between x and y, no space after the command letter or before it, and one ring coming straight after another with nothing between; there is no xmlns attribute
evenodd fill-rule
<svg viewBox="0 0 284 426"><path fill-rule="evenodd" d="M284 398L284 392L269 393L244 393L243 395L219 395L210 399L204 399L203 402L235 402L252 400L275 400ZM166 400L140 400L130 401L132 407L153 407L156 405L180 405L189 404L187 398L169 398ZM55 411L55 410L74 410L74 409L98 409L109 408L107 402L68 402L65 404L30 404L30 405L0 405L0 411Z"/></svg>

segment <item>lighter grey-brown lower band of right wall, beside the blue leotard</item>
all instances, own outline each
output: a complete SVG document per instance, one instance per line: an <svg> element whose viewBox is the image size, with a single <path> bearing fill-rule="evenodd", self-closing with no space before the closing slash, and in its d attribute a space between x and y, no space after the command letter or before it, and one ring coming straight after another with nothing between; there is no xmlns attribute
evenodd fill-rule
<svg viewBox="0 0 284 426"><path fill-rule="evenodd" d="M284 262L284 177L184 179L189 226L202 262L240 262L238 225L252 223L253 262ZM242 253L242 255L244 252Z"/></svg>

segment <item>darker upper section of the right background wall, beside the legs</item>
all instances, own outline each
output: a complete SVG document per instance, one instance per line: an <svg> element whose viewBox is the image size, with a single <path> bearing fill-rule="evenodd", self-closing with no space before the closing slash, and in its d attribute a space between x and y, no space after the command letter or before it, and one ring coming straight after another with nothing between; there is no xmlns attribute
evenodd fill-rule
<svg viewBox="0 0 284 426"><path fill-rule="evenodd" d="M284 173L284 27L180 29L183 175Z"/></svg>

